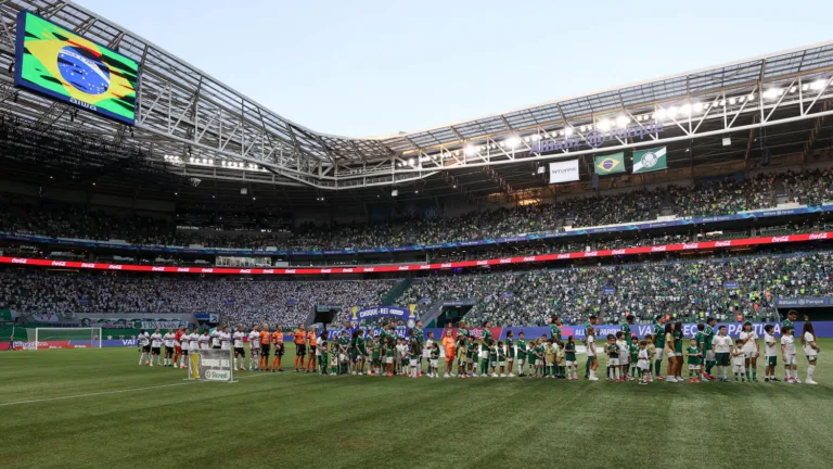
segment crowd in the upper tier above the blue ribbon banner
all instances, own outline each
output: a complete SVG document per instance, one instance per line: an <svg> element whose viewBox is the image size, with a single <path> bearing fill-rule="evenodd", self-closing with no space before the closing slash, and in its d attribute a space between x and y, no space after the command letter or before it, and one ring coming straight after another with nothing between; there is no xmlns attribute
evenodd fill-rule
<svg viewBox="0 0 833 469"><path fill-rule="evenodd" d="M0 231L97 240L119 239L136 244L217 248L266 248L309 251L431 244L555 231L564 226L584 227L656 219L659 215L696 217L773 207L779 200L818 205L833 200L833 172L812 170L761 175L743 181L716 180L693 187L669 186L655 190L582 199L560 199L537 204L435 219L398 219L387 224L300 226L285 230L283 216L245 225L231 218L225 230L221 217L189 218L204 223L203 230L176 229L163 217L117 216L67 205L0 203ZM202 221L201 221L202 220ZM274 230L238 231L240 227L268 226ZM283 227L278 229L278 227Z"/></svg>

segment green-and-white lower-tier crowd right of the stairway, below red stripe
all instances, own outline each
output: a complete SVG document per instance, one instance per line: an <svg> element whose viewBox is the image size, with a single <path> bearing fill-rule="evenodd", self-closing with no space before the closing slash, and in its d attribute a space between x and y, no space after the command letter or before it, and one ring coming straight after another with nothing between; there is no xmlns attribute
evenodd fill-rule
<svg viewBox="0 0 833 469"><path fill-rule="evenodd" d="M823 252L435 276L414 281L399 302L425 312L436 301L472 300L466 318L495 326L543 326L552 314L565 324L589 314L619 322L626 313L649 322L663 312L681 320L771 320L776 297L825 296L832 284L833 254Z"/></svg>

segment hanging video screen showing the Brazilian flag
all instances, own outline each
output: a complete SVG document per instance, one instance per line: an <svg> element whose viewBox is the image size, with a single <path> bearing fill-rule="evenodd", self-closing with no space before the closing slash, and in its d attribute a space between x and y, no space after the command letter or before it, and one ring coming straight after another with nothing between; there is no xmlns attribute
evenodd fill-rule
<svg viewBox="0 0 833 469"><path fill-rule="evenodd" d="M139 64L29 12L17 15L14 86L133 125Z"/></svg>

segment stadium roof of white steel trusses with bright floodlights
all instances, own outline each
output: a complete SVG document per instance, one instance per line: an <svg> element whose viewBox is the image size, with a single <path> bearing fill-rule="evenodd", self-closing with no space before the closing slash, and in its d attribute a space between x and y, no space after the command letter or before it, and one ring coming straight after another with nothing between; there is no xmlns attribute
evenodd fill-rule
<svg viewBox="0 0 833 469"><path fill-rule="evenodd" d="M15 16L22 10L140 63L134 127L74 113L68 105L12 87ZM824 42L431 129L348 138L315 131L280 116L73 2L0 0L0 107L15 115L35 119L47 129L94 132L115 144L141 148L152 162L187 177L316 191L373 189L374 197L380 187L430 187L437 180L453 193L458 181L463 183L471 174L479 175L480 181L492 181L492 190L543 186L546 181L529 177L540 162L589 159L601 151L646 144L677 142L680 152L685 147L684 155L669 153L669 166L689 164L689 159L693 166L700 157L715 162L716 152L692 148L701 143L709 148L713 143L704 142L723 134L743 132L752 139L758 128L823 117L830 113L826 102L833 89L833 42ZM767 96L772 90L781 94ZM700 106L700 114L691 112L692 105ZM687 107L687 116L666 116ZM659 119L659 113L667 130L662 136L586 144L589 131L617 118L642 127L649 119ZM805 127L802 131L811 129L812 123ZM563 140L574 132L580 143L576 149L541 154L531 144ZM796 141L806 138L802 135ZM748 159L749 148L743 150L740 153ZM738 153L726 157L738 157ZM588 169L582 170L587 174Z"/></svg>

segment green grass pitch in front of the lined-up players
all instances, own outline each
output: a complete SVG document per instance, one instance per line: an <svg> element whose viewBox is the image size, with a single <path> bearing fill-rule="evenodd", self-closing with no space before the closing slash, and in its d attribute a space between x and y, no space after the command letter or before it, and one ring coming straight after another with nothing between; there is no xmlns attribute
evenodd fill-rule
<svg viewBox="0 0 833 469"><path fill-rule="evenodd" d="M819 344L833 348L833 340ZM284 368L292 362L290 351ZM132 347L0 353L0 467L783 469L833 460L826 351L816 386L294 372L214 383L137 363Z"/></svg>

